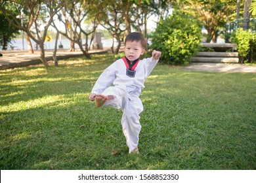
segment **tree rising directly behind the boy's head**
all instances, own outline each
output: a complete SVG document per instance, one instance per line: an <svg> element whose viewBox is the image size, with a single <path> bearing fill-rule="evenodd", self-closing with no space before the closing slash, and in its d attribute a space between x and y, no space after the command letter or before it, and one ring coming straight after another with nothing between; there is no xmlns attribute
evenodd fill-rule
<svg viewBox="0 0 256 183"><path fill-rule="evenodd" d="M101 11L98 22L112 35L113 53L119 52L122 37L130 33L132 27L140 33L144 32L147 37L148 17L161 12L158 5L162 4L155 3L154 0L100 1L98 9ZM114 39L117 40L116 50L114 50Z"/></svg>

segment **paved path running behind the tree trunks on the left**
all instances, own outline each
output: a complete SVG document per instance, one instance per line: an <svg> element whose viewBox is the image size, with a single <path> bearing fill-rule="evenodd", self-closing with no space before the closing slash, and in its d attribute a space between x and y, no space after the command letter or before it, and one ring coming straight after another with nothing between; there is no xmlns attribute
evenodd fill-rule
<svg viewBox="0 0 256 183"><path fill-rule="evenodd" d="M104 50L90 50L89 53L100 53L107 52L107 49ZM10 51L1 51L3 56L0 57L0 70L11 69L15 67L25 67L28 65L35 65L41 63L40 52L35 51L34 54L29 54L28 50L10 50ZM58 50L56 57L58 59L73 58L76 56L83 56L81 51L69 52L68 50ZM53 50L45 50L45 58L47 61L53 59Z"/></svg>

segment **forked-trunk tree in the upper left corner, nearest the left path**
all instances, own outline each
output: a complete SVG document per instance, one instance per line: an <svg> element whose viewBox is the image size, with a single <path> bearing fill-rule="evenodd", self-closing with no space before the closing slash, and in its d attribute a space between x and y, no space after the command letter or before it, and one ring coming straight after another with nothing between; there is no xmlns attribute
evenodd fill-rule
<svg viewBox="0 0 256 183"><path fill-rule="evenodd" d="M35 41L36 44L39 45L41 49L41 61L43 65L45 65L46 68L49 67L49 64L47 63L47 60L45 59L45 48L43 46L45 42L45 37L47 36L47 30L51 23L53 22L53 17L55 14L60 11L60 9L68 3L68 1L65 0L16 0L16 1L0 1L0 10L3 12L9 23L16 27L17 29L20 29L22 31L25 31L26 34ZM16 7L24 8L26 12L28 12L28 22L33 22L35 26L35 32L34 35L30 29L28 29L29 25L28 22L24 25L20 24L20 21L16 18L15 14L13 14L10 10L12 5L16 5ZM45 22L45 26L43 27L43 32L40 31L40 26L43 18L45 16L41 16L41 13L45 13L48 15L48 20ZM8 15L11 15L11 18Z"/></svg>

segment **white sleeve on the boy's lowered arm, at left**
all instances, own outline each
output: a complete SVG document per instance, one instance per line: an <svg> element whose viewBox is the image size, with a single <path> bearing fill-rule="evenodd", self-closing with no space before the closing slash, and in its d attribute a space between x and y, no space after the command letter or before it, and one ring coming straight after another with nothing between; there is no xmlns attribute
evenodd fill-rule
<svg viewBox="0 0 256 183"><path fill-rule="evenodd" d="M103 71L103 73L98 77L95 86L93 86L91 93L100 94L113 84L116 79L115 65L115 63L112 63L112 65Z"/></svg>

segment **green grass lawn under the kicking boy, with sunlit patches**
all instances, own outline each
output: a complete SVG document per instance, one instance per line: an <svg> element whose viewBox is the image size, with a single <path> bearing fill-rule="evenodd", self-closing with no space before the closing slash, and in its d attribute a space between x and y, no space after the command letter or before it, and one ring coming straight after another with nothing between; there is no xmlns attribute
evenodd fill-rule
<svg viewBox="0 0 256 183"><path fill-rule="evenodd" d="M0 168L256 169L255 74L158 64L140 95L140 154L128 154L121 112L87 99L112 61L0 71Z"/></svg>

